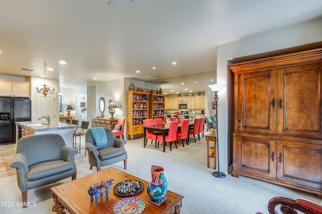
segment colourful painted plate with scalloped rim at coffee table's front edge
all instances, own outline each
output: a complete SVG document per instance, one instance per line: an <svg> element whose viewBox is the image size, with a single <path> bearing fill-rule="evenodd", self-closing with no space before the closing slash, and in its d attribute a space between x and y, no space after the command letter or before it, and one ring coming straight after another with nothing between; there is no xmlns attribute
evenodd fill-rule
<svg viewBox="0 0 322 214"><path fill-rule="evenodd" d="M145 209L144 201L139 197L126 197L119 200L113 208L115 214L140 214Z"/></svg>

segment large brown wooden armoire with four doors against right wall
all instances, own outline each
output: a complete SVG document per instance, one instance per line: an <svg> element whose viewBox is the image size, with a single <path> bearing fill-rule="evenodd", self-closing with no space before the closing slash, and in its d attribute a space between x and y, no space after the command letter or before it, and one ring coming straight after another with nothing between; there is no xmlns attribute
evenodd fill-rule
<svg viewBox="0 0 322 214"><path fill-rule="evenodd" d="M227 67L234 73L232 176L322 196L322 49Z"/></svg>

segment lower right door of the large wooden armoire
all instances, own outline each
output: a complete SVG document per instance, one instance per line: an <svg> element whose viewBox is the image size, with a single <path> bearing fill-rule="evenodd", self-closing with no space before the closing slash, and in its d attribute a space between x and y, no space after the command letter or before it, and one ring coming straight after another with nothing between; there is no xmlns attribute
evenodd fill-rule
<svg viewBox="0 0 322 214"><path fill-rule="evenodd" d="M277 141L277 179L322 190L322 145Z"/></svg>

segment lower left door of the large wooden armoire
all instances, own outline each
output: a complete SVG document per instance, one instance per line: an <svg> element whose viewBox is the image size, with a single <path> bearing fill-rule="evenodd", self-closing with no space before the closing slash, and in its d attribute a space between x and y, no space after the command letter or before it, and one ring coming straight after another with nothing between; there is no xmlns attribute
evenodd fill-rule
<svg viewBox="0 0 322 214"><path fill-rule="evenodd" d="M265 138L236 136L235 169L276 178L276 141Z"/></svg>

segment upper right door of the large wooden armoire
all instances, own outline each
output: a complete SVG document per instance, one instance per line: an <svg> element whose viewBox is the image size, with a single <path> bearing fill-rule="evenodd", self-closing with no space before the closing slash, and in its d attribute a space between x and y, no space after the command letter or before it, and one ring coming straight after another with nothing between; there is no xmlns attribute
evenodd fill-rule
<svg viewBox="0 0 322 214"><path fill-rule="evenodd" d="M277 133L321 139L321 64L278 69L277 75Z"/></svg>

